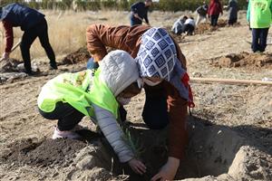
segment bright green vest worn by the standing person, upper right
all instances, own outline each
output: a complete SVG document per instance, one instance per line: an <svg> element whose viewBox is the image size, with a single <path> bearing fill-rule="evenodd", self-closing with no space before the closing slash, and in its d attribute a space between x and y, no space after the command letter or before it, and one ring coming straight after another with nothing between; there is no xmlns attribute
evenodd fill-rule
<svg viewBox="0 0 272 181"><path fill-rule="evenodd" d="M272 0L249 0L247 20L251 28L268 28L272 20Z"/></svg>

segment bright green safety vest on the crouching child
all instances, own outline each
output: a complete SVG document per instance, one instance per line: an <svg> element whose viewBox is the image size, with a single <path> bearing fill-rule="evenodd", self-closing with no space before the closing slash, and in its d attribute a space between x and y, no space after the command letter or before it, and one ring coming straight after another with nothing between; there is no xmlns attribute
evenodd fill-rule
<svg viewBox="0 0 272 181"><path fill-rule="evenodd" d="M57 102L69 103L86 116L94 117L92 103L109 110L118 118L118 102L112 91L101 80L101 70L92 76L91 70L63 73L48 81L38 97L38 107L52 112Z"/></svg>

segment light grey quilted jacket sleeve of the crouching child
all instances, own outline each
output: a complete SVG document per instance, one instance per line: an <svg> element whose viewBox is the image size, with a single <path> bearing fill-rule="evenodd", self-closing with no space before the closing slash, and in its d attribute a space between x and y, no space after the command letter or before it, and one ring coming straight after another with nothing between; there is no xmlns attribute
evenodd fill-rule
<svg viewBox="0 0 272 181"><path fill-rule="evenodd" d="M113 150L118 155L122 163L134 157L131 148L123 140L123 131L120 125L109 110L92 104L98 126L102 129L105 138L111 144Z"/></svg>

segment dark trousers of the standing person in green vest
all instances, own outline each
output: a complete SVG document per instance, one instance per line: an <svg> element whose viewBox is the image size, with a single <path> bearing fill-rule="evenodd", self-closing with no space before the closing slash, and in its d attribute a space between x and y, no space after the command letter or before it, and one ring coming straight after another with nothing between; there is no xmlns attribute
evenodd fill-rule
<svg viewBox="0 0 272 181"><path fill-rule="evenodd" d="M251 49L253 52L265 52L269 28L252 28Z"/></svg>

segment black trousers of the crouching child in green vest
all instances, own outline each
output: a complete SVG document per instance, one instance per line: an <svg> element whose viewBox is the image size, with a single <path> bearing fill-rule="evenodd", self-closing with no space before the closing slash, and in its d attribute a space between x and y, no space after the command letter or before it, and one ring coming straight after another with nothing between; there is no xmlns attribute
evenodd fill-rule
<svg viewBox="0 0 272 181"><path fill-rule="evenodd" d="M63 102L57 102L52 112L39 111L45 119L58 119L57 127L60 130L73 129L84 117L82 112Z"/></svg>

